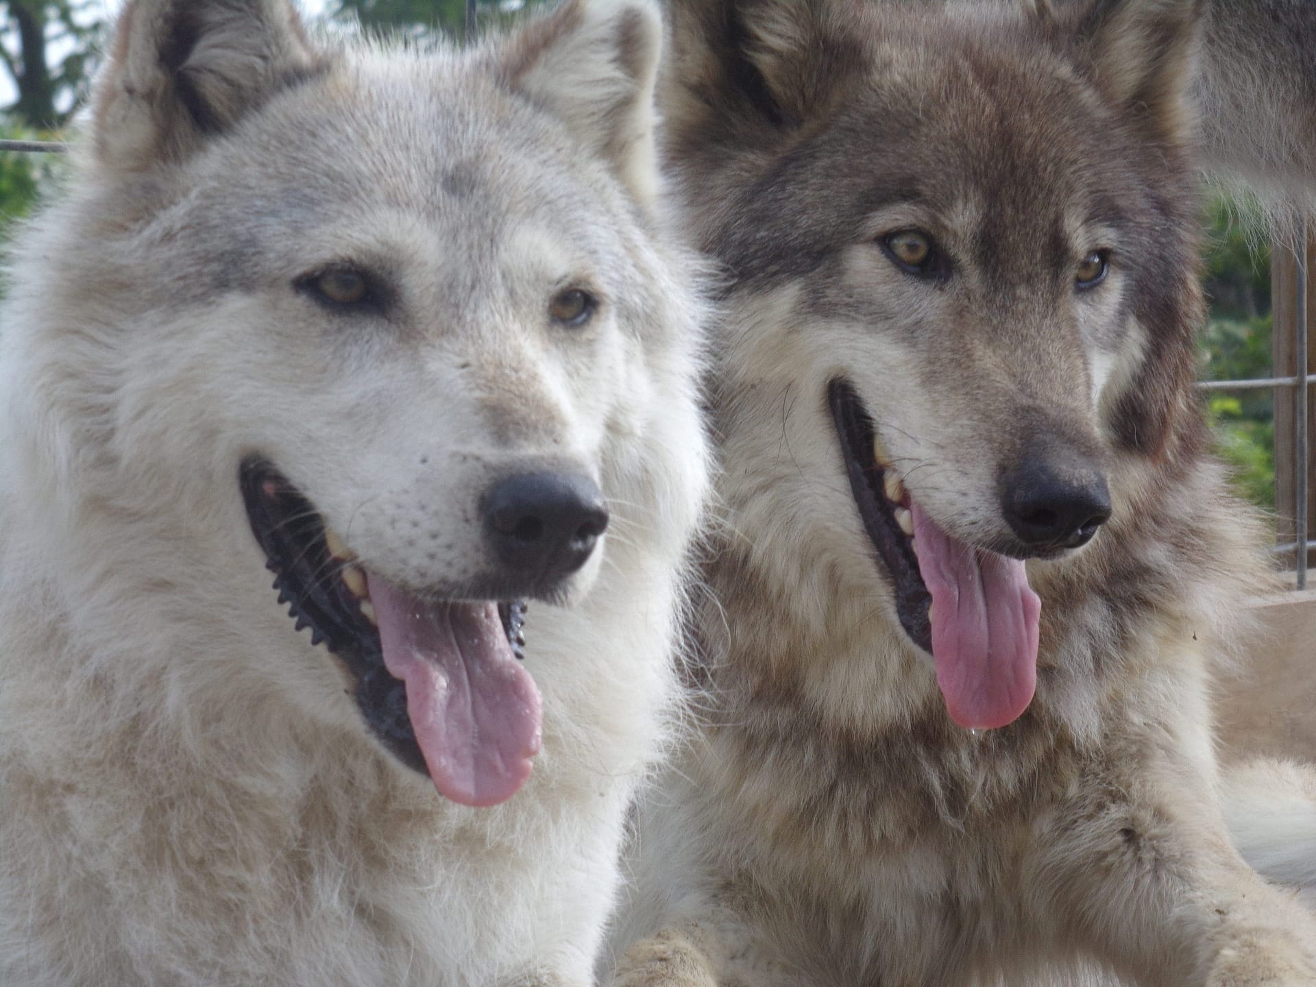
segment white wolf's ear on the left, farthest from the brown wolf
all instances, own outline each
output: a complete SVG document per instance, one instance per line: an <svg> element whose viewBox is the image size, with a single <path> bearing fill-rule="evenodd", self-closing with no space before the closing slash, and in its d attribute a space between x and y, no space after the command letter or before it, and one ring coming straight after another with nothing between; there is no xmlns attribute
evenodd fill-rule
<svg viewBox="0 0 1316 987"><path fill-rule="evenodd" d="M96 80L96 155L180 161L321 61L287 0L130 0Z"/></svg>

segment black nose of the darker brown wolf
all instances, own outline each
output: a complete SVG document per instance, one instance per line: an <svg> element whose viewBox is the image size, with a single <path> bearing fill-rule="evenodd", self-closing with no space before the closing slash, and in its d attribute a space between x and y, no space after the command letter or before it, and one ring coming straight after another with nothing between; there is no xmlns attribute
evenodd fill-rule
<svg viewBox="0 0 1316 987"><path fill-rule="evenodd" d="M1033 457L1005 478L1001 509L1020 541L1076 549L1111 516L1111 492L1086 459Z"/></svg>

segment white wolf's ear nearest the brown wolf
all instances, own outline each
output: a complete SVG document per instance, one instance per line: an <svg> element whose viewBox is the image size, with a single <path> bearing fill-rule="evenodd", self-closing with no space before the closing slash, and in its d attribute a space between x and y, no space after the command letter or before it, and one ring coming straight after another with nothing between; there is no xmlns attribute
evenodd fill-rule
<svg viewBox="0 0 1316 987"><path fill-rule="evenodd" d="M658 191L654 84L662 18L651 0L569 0L503 54L512 88L566 121L646 209Z"/></svg>

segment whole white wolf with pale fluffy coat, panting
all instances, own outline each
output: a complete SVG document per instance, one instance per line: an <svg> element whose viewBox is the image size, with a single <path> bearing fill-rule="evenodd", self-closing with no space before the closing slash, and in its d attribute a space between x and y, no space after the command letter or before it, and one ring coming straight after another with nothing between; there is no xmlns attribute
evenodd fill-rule
<svg viewBox="0 0 1316 987"><path fill-rule="evenodd" d="M0 982L591 982L707 472L661 39L126 7L3 315Z"/></svg>

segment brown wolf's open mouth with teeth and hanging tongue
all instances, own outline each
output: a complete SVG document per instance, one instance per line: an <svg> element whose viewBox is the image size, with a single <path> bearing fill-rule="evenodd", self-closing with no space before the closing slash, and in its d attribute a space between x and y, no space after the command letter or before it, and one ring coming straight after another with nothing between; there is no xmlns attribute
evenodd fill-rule
<svg viewBox="0 0 1316 987"><path fill-rule="evenodd" d="M828 386L828 407L896 617L932 655L946 711L974 729L1012 722L1037 686L1041 600L1024 562L959 541L920 508L850 383Z"/></svg>

